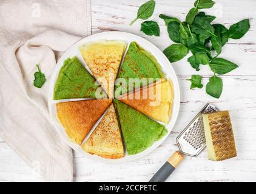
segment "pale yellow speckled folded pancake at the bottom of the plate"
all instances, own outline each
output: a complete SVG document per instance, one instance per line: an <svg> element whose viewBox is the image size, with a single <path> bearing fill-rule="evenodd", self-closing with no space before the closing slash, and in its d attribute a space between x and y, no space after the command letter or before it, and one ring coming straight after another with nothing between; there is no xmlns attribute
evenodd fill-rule
<svg viewBox="0 0 256 194"><path fill-rule="evenodd" d="M83 149L103 158L115 159L124 156L121 132L113 104L110 105L106 115L83 144Z"/></svg>

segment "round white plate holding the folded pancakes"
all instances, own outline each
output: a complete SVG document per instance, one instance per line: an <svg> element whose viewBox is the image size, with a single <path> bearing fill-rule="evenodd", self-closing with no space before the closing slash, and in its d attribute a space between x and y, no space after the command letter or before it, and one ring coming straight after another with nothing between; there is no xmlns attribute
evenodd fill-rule
<svg viewBox="0 0 256 194"><path fill-rule="evenodd" d="M158 62L160 63L160 65L162 67L162 70L163 70L164 74L166 75L166 78L170 78L173 82L174 99L173 99L173 107L172 107L172 117L170 119L169 124L166 125L166 129L168 130L167 135L164 136L160 141L155 142L152 146L150 146L149 148L147 148L143 152L138 153L136 155L132 155L132 156L127 155L127 152L126 152L126 155L123 158L120 158L120 159L105 159L105 158L101 158L97 155L90 155L89 153L84 152L83 149L81 148L81 146L79 146L78 144L75 144L75 143L73 143L72 141L69 140L69 138L66 135L66 132L65 132L64 128L62 127L61 124L59 124L58 120L56 119L56 106L55 106L55 104L57 102L81 100L81 99L65 99L65 100L58 100L58 101L53 100L54 85L55 85L56 79L58 77L59 70L61 69L61 67L63 65L63 62L67 58L72 58L73 56L76 56L85 65L86 69L89 70L89 68L87 67L86 63L83 60L83 57L81 56L81 54L78 50L78 47L80 45L87 44L88 42L98 41L98 40L101 40L101 39L126 41L127 42L127 48L129 47L130 42L132 42L132 41L138 42L138 44L141 45L141 47L143 47L144 49L146 49L147 51L152 53L152 55L155 56L155 58L157 58ZM90 72L90 70L89 70L89 72ZM179 112L179 109L180 109L180 88L179 88L179 85L178 85L177 76L176 76L176 74L175 74L175 72L172 68L172 65L170 64L170 62L166 58L166 56L164 56L164 54L157 47L155 47L155 45L153 45L149 41L146 41L146 39L143 39L140 36L136 36L136 35L133 35L131 33L126 33L126 32L103 32L103 33L98 33L98 34L95 34L95 35L92 35L92 36L87 36L86 38L81 39L81 41L76 42L76 44L74 44L69 50L67 50L64 53L64 55L61 57L61 59L59 59L58 63L55 66L55 69L53 70L52 78L50 79L48 105L49 105L49 111L50 111L50 115L52 117L52 121L53 121L53 125L55 126L55 129L62 136L62 138L64 138L64 140L67 142L67 144L70 147L72 147L72 149L76 150L76 152L83 153L84 155L87 155L88 158L95 159L96 161L127 162L127 161L132 161L134 159L138 159L142 156L147 155L147 153L152 152L158 146L160 146L160 144L164 141L164 139L167 138L167 136L169 135L170 131L172 130L172 128L175 124L175 121L177 119L178 112ZM99 121L100 120L101 119L99 119ZM87 135L86 139L89 138L90 134L93 132L93 130L95 129L98 122L95 124L95 126L93 127L93 129L91 130L89 135ZM84 141L86 141L86 139L84 139Z"/></svg>

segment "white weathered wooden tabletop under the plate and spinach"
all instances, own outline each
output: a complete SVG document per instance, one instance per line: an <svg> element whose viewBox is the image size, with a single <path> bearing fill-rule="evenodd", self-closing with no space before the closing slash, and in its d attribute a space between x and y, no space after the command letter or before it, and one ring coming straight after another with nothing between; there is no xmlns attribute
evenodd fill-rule
<svg viewBox="0 0 256 194"><path fill-rule="evenodd" d="M138 0L92 0L92 33L119 30L140 35L161 50L172 42L167 36L164 22L158 18L160 13L184 19L194 1L157 0L152 18L160 24L161 36L146 36L140 32L141 20L132 26L130 21L136 17L138 7L145 1ZM75 181L148 181L153 173L177 150L175 138L206 102L213 102L220 110L229 110L234 128L237 157L214 162L207 159L206 150L197 158L186 157L167 181L256 181L256 1L226 0L216 1L214 8L204 10L217 15L214 22L226 27L249 18L251 29L242 39L233 40L224 46L221 57L239 65L239 68L221 76L223 93L220 99L206 95L205 88L190 90L186 79L195 74L187 63L187 58L173 63L177 73L181 106L173 131L155 151L136 161L123 164L103 164L74 153ZM199 75L212 76L209 67L201 67ZM0 139L0 181L42 181L43 179L22 161L2 139Z"/></svg>

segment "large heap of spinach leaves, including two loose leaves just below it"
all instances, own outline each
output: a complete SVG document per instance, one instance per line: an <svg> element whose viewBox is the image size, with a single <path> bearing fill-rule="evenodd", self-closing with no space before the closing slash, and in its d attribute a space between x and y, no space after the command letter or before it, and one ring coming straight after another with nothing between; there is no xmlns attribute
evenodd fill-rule
<svg viewBox="0 0 256 194"><path fill-rule="evenodd" d="M218 58L222 47L228 39L240 39L249 30L249 19L243 19L227 29L222 24L211 24L215 16L206 15L199 12L203 8L211 8L215 4L212 0L197 0L194 7L187 13L186 21L161 14L159 17L164 20L167 26L169 38L175 42L164 49L163 53L170 62L180 61L189 51L192 53L187 59L191 67L196 71L200 70L201 65L209 65L214 76L209 78L206 84L206 93L214 98L220 98L223 90L223 82L218 75L224 75L238 67L227 59ZM190 89L195 87L202 88L201 76L192 75Z"/></svg>

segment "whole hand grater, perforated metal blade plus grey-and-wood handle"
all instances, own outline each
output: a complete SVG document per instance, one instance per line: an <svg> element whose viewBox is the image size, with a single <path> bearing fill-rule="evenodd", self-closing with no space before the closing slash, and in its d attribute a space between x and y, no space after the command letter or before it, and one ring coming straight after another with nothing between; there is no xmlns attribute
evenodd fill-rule
<svg viewBox="0 0 256 194"><path fill-rule="evenodd" d="M165 181L183 160L184 156L198 156L206 147L204 135L204 124L202 113L212 113L218 109L207 103L203 109L192 119L187 127L177 136L176 142L180 152L173 153L157 173L150 179L150 182Z"/></svg>

